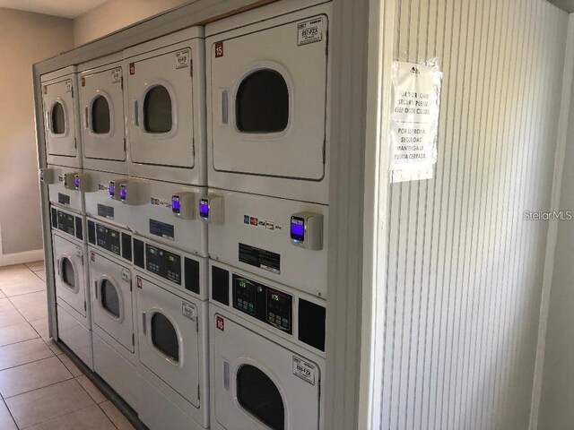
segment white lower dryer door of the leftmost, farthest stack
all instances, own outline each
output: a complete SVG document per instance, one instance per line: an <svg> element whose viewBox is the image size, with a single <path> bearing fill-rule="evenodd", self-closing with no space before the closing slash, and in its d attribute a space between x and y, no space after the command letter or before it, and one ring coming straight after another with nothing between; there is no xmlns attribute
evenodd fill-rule
<svg viewBox="0 0 574 430"><path fill-rule="evenodd" d="M56 295L75 312L86 316L83 249L63 237L54 236Z"/></svg>

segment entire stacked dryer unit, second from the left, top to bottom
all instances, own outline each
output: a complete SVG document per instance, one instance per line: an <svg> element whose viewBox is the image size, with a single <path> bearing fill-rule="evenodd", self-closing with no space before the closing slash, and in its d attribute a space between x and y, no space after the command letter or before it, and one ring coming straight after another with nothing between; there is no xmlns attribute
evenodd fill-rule
<svg viewBox="0 0 574 430"><path fill-rule="evenodd" d="M83 192L87 214L93 368L135 410L137 373L129 208L114 189L127 179L121 53L80 64Z"/></svg>

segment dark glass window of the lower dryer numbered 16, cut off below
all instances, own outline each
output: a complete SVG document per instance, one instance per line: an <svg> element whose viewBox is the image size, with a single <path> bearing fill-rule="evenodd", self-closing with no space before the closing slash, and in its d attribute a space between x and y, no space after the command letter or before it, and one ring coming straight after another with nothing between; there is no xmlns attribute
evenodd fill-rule
<svg viewBox="0 0 574 430"><path fill-rule="evenodd" d="M285 428L283 398L274 382L255 366L245 365L237 373L237 400L251 414L274 430Z"/></svg>

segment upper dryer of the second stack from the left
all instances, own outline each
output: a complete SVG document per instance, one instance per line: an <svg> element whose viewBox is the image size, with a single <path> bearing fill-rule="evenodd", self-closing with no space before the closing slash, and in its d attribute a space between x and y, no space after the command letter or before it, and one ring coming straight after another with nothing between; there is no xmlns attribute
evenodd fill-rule
<svg viewBox="0 0 574 430"><path fill-rule="evenodd" d="M121 53L78 66L83 168L127 174Z"/></svg>

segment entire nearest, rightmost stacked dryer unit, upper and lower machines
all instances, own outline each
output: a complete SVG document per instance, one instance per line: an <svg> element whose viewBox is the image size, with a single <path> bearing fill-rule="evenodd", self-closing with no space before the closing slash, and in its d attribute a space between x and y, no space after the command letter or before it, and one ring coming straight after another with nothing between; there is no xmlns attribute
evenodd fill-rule
<svg viewBox="0 0 574 430"><path fill-rule="evenodd" d="M331 4L297 3L206 27L217 430L324 423Z"/></svg>

